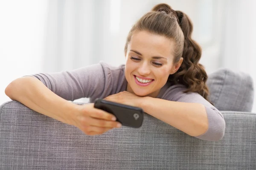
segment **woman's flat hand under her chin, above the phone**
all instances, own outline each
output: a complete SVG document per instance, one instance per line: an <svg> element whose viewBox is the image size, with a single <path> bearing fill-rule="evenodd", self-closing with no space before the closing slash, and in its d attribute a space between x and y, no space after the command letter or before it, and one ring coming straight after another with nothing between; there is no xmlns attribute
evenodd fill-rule
<svg viewBox="0 0 256 170"><path fill-rule="evenodd" d="M143 98L143 96L137 96L136 94L130 93L128 91L121 91L117 94L112 94L106 97L105 100L134 107L141 107Z"/></svg>

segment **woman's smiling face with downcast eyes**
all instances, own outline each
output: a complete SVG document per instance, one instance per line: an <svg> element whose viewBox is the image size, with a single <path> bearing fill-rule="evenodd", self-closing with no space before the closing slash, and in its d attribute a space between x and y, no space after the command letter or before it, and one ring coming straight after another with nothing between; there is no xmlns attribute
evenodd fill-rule
<svg viewBox="0 0 256 170"><path fill-rule="evenodd" d="M166 84L170 74L174 74L183 59L174 65L173 48L175 42L146 31L135 32L127 47L125 78L127 91L138 96L156 97Z"/></svg>

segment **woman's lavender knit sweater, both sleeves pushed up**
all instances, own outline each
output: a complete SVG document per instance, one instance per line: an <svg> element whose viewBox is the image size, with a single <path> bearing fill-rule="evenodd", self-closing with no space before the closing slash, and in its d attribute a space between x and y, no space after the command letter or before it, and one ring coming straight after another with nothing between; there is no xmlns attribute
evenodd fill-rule
<svg viewBox="0 0 256 170"><path fill-rule="evenodd" d="M90 98L94 102L96 98L105 98L126 90L125 65L113 67L105 62L79 68L72 71L58 73L45 73L30 75L38 78L53 93L73 101L80 98ZM177 102L201 103L205 106L208 117L208 130L196 138L210 141L222 139L225 131L225 121L218 109L211 105L198 93L183 93L186 87L183 85L166 85L161 88L157 98Z"/></svg>

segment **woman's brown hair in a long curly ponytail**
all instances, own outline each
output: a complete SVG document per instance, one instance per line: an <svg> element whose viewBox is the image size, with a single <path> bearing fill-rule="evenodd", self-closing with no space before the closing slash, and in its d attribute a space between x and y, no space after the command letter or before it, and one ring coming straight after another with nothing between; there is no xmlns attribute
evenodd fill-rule
<svg viewBox="0 0 256 170"><path fill-rule="evenodd" d="M209 89L206 85L208 76L204 66L198 63L202 50L198 43L192 40L192 30L192 22L186 14L182 11L174 11L165 3L158 4L132 26L125 44L125 55L128 43L135 31L148 31L150 34L174 40L173 62L177 63L181 57L183 57L183 62L175 74L169 75L168 81L172 85L185 85L188 89L184 93L197 92L209 101Z"/></svg>

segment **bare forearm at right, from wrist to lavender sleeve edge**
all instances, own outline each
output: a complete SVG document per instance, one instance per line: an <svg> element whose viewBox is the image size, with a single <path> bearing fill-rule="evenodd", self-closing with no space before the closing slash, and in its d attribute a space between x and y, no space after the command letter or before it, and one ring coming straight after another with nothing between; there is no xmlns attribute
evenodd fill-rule
<svg viewBox="0 0 256 170"><path fill-rule="evenodd" d="M144 112L190 136L200 136L208 129L207 113L204 105L200 103L173 102L145 97L140 107Z"/></svg>

